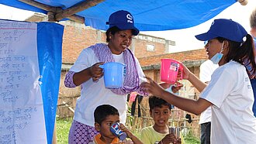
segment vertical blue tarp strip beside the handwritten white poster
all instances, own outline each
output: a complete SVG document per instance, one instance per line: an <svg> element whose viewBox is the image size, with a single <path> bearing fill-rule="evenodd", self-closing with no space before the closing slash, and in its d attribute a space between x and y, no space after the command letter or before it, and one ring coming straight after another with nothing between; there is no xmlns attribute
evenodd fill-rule
<svg viewBox="0 0 256 144"><path fill-rule="evenodd" d="M62 36L64 26L52 22L37 23L37 51L43 96L47 143L52 143L57 98L61 79Z"/></svg>

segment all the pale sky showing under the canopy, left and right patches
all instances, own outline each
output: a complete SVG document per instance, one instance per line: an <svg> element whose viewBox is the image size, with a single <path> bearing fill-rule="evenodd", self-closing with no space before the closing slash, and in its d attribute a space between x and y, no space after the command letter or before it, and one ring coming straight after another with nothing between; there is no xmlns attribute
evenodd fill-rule
<svg viewBox="0 0 256 144"><path fill-rule="evenodd" d="M247 1L247 5L240 5L239 2L236 2L223 12L220 12L220 14L216 15L213 19L233 19L244 26L247 32L250 33L249 17L253 9L256 9L256 0ZM34 13L1 4L0 9L2 11L0 12L0 19L24 20ZM204 22L199 26L194 26L188 29L140 33L175 41L176 45L170 47L171 53L186 50L196 50L203 47L203 42L195 39L195 35L206 33L209 30L209 26L211 26L213 19L209 19L207 22Z"/></svg>

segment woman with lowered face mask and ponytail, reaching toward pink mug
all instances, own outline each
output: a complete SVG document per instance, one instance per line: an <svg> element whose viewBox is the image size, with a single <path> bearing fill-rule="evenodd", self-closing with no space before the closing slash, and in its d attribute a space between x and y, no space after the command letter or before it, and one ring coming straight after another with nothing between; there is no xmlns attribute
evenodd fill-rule
<svg viewBox="0 0 256 144"><path fill-rule="evenodd" d="M252 37L231 19L215 19L207 33L195 37L209 41L206 46L209 59L220 65L208 85L183 65L183 77L201 92L199 100L168 93L150 78L143 84L145 91L195 115L211 107L211 143L256 143L254 95L250 83L256 67ZM247 69L248 66L251 68Z"/></svg>

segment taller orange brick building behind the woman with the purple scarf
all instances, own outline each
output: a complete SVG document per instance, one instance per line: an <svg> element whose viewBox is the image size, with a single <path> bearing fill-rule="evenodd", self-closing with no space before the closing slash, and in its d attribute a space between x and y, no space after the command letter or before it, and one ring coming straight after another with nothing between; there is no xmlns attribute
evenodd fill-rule
<svg viewBox="0 0 256 144"><path fill-rule="evenodd" d="M84 48L92 46L95 43L106 43L106 33L101 30L92 29L76 24L64 23L64 36L63 36L63 48L62 48L62 62L74 63L79 53ZM137 58L151 57L166 53L165 43L169 40L157 38L153 36L140 35L134 36L133 43L130 49L133 51ZM147 44L154 45L154 51L147 50Z"/></svg>

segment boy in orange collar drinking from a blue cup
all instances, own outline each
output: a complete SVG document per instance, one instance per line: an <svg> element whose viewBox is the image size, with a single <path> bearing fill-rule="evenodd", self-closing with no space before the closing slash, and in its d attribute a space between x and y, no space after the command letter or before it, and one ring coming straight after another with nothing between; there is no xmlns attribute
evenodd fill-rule
<svg viewBox="0 0 256 144"><path fill-rule="evenodd" d="M123 132L126 132L128 138L130 138L133 142L129 142L124 140L121 141L110 131L110 127L112 124L118 122L119 123L119 112L116 108L111 105L99 105L94 111L95 118L95 129L99 132L98 135L95 135L95 138L91 144L103 144L103 143L134 143L134 144L142 144L140 139L138 139L135 135L133 135L123 124L119 125L119 129Z"/></svg>

